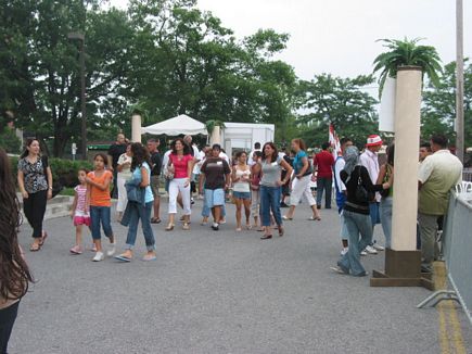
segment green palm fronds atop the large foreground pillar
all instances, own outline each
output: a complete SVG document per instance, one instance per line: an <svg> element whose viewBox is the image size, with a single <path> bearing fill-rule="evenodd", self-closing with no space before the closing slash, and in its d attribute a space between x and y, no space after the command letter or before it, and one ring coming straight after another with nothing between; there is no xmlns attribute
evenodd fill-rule
<svg viewBox="0 0 472 354"><path fill-rule="evenodd" d="M423 71L423 77L426 75L433 85L439 81L438 74L442 72L441 59L437 51L432 46L418 46L421 38L398 40L398 39L380 39L384 47L388 48L375 58L373 72L381 71L379 77L380 94L387 77L396 77L400 66L419 66Z"/></svg>

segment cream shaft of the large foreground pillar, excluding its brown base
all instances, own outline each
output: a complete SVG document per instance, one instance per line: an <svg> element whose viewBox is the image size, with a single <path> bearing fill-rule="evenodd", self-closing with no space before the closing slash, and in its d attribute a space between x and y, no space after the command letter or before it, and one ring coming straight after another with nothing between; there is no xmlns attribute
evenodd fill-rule
<svg viewBox="0 0 472 354"><path fill-rule="evenodd" d="M420 146L422 72L399 67L395 102L395 177L392 249L417 249L418 147Z"/></svg>

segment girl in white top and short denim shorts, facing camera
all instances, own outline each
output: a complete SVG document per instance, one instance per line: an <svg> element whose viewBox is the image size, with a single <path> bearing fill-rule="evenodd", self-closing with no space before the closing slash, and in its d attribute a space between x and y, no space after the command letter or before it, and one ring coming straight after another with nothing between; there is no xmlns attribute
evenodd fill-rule
<svg viewBox="0 0 472 354"><path fill-rule="evenodd" d="M244 205L246 228L251 228L251 167L247 166L247 154L240 151L235 154L237 165L232 169L233 198L237 206L237 231L241 231L241 208Z"/></svg>

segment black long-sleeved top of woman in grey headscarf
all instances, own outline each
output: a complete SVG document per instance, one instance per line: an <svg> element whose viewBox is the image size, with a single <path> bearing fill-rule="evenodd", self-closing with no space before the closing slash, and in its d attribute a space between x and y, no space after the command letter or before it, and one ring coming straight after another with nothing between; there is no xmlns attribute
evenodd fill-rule
<svg viewBox="0 0 472 354"><path fill-rule="evenodd" d="M350 174L350 179L346 182L347 173L343 169L340 173L341 180L346 186L347 190L347 201L344 205L344 210L353 213L366 214L369 215L369 202L359 201L356 198L356 189L359 181L359 176L361 180L361 185L368 192L379 192L383 189L382 185L373 185L370 179L369 172L365 166L356 166L353 173Z"/></svg>

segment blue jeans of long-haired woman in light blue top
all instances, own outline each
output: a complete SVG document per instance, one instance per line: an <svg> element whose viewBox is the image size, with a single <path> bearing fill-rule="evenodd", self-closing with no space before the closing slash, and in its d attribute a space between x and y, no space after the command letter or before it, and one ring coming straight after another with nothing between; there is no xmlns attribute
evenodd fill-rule
<svg viewBox="0 0 472 354"><path fill-rule="evenodd" d="M127 250L132 250L132 248L135 246L140 218L142 233L144 233L145 248L148 249L148 251L155 250L155 239L151 228L152 205L153 202L145 203L145 206L139 205L137 202L128 202L127 207L129 207L129 225L128 236L126 237Z"/></svg>

